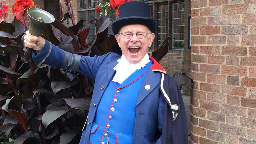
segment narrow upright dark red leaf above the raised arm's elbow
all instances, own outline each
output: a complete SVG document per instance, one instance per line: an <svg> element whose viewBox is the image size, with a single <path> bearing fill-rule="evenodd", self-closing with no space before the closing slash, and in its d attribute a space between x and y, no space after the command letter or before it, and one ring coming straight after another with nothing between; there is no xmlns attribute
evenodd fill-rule
<svg viewBox="0 0 256 144"><path fill-rule="evenodd" d="M89 29L90 29L90 26L91 24L93 23L93 21L96 20L96 19L93 19L93 20L90 20L90 22L88 23L88 25L84 26L82 29L80 29L77 33L77 37L78 37L78 42L79 42L79 45L83 48L84 47L84 43L85 43L85 40L88 36L88 33L89 33Z"/></svg>

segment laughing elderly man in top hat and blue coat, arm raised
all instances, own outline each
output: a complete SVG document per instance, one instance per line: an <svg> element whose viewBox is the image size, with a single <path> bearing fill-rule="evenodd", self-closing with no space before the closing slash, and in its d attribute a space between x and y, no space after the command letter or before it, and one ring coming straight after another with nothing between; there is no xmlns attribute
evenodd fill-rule
<svg viewBox="0 0 256 144"><path fill-rule="evenodd" d="M36 64L45 63L70 79L80 73L95 79L80 144L186 144L187 123L177 83L149 57L156 22L140 1L119 8L112 24L122 55L79 56L26 31Z"/></svg>

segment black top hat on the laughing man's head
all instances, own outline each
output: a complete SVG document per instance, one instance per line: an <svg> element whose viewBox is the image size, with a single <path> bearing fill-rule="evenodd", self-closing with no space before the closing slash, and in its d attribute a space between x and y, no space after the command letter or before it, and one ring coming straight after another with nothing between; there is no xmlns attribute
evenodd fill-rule
<svg viewBox="0 0 256 144"><path fill-rule="evenodd" d="M150 6L141 1L123 3L119 9L119 19L112 23L114 35L118 34L120 28L129 24L146 25L152 33L156 31L156 22L150 17Z"/></svg>

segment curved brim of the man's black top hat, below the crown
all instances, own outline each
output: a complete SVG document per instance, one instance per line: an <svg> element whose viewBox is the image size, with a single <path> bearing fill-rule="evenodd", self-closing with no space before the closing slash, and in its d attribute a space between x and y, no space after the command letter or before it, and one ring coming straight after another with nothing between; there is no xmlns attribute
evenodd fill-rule
<svg viewBox="0 0 256 144"><path fill-rule="evenodd" d="M152 33L156 32L156 22L154 19L149 17L124 17L115 20L112 23L112 30L114 35L118 34L119 30L125 26L130 24L142 24L147 26Z"/></svg>

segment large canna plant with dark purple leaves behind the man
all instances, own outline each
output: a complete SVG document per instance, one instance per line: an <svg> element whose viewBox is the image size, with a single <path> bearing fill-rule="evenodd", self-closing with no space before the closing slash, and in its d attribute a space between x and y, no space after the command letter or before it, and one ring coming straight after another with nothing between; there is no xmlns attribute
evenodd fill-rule
<svg viewBox="0 0 256 144"><path fill-rule="evenodd" d="M33 61L25 63L24 24L16 16L12 22L0 24L0 143L79 143L94 81L79 74L70 80L60 70L45 64L38 67ZM121 54L109 17L100 16L86 26L80 20L68 28L62 24L67 17L70 14L46 26L42 37L73 54ZM93 21L96 34L87 44ZM170 40L171 37L164 40L152 53L156 60L167 54Z"/></svg>

